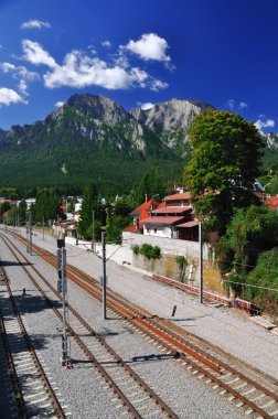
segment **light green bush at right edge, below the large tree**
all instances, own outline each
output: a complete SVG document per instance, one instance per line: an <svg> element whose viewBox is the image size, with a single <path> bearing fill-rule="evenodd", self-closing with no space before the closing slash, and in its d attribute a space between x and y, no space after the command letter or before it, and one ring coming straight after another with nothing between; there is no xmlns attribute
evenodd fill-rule
<svg viewBox="0 0 278 419"><path fill-rule="evenodd" d="M246 284L244 297L249 301L256 301L260 307L269 301L278 303L278 247L259 256L256 268L246 279Z"/></svg>

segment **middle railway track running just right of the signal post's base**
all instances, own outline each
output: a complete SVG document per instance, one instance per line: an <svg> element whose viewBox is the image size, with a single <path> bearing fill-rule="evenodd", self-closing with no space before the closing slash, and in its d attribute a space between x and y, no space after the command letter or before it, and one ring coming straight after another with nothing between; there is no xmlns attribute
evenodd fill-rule
<svg viewBox="0 0 278 419"><path fill-rule="evenodd" d="M3 236L2 239L6 240L10 251L21 264L32 283L43 296L45 302L62 321L62 309L57 308L55 303L55 301L62 300L60 293L34 266L24 266L26 258L14 247L13 243L10 240L8 243ZM47 293L43 290L43 287L45 289L45 284L49 288ZM125 411L128 411L131 417L137 419L178 419L178 416L171 408L163 402L148 384L119 357L106 341L70 304L68 310L72 322L71 325L67 324L67 332L106 383L106 389L110 390L119 415L125 415Z"/></svg>

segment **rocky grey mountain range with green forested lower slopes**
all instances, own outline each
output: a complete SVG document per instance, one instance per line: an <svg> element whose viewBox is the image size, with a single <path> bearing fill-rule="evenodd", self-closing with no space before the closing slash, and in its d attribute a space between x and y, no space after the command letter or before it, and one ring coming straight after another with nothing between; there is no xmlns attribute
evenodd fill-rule
<svg viewBox="0 0 278 419"><path fill-rule="evenodd" d="M130 191L151 168L179 181L190 153L189 126L207 107L171 99L127 111L105 96L73 95L42 121L0 129L1 184L70 191L90 180L115 194ZM266 143L275 149L278 137L269 135Z"/></svg>

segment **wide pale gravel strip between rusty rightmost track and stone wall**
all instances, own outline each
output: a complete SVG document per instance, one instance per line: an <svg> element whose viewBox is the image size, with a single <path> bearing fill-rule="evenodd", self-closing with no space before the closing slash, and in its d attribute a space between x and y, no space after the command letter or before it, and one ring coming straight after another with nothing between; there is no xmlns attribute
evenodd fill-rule
<svg viewBox="0 0 278 419"><path fill-rule="evenodd" d="M56 240L42 235L34 243L55 251ZM53 248L54 245L54 248ZM87 271L95 278L101 276L101 260L84 248L66 245L67 261ZM201 337L223 347L278 379L278 336L248 320L237 310L200 304L195 297L159 284L146 275L107 262L108 286L130 301L149 311L173 320L171 313L177 305L174 323ZM151 296L151 298L150 298Z"/></svg>

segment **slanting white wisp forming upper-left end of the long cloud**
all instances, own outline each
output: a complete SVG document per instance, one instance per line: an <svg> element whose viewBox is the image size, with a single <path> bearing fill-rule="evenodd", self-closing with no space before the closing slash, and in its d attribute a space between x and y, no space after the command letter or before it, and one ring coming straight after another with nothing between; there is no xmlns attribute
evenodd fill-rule
<svg viewBox="0 0 278 419"><path fill-rule="evenodd" d="M52 68L57 66L55 60L47 53L47 51L43 50L39 42L23 40L22 49L23 58L30 63L35 65L44 64Z"/></svg>

